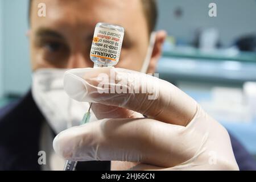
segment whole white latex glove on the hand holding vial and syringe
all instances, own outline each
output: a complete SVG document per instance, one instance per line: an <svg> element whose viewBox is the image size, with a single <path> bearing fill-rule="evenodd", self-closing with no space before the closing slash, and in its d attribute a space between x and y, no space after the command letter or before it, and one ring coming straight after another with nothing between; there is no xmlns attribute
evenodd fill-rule
<svg viewBox="0 0 256 182"><path fill-rule="evenodd" d="M105 89L102 78L110 82ZM144 84L150 92L142 93ZM99 93L121 85L141 92ZM93 111L101 119L57 135L53 147L65 159L119 161L114 169L238 169L225 128L167 81L113 67L72 69L64 89L77 101L97 103ZM155 100L148 99L152 95Z"/></svg>

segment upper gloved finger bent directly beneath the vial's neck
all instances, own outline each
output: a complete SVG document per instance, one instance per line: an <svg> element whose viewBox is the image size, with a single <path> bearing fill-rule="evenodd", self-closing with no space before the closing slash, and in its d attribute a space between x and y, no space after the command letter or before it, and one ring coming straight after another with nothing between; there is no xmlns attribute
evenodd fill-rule
<svg viewBox="0 0 256 182"><path fill-rule="evenodd" d="M77 101L123 107L175 125L186 126L196 113L196 102L176 86L127 69L72 69L64 89Z"/></svg>

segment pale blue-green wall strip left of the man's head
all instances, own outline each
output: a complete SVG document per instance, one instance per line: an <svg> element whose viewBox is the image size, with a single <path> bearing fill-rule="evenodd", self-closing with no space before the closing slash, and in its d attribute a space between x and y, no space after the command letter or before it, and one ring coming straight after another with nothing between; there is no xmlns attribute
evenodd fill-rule
<svg viewBox="0 0 256 182"><path fill-rule="evenodd" d="M31 83L28 53L27 0L3 3L3 85L6 93L22 94Z"/></svg>

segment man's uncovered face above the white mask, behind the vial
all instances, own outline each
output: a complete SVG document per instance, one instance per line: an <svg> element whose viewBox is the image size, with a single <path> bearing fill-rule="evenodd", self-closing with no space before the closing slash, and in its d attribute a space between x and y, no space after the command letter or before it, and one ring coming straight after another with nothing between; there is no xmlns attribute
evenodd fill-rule
<svg viewBox="0 0 256 182"><path fill-rule="evenodd" d="M46 4L46 17L38 4ZM139 0L34 0L31 9L32 69L93 67L90 47L96 23L125 28L116 67L140 71L149 43L146 16Z"/></svg>

